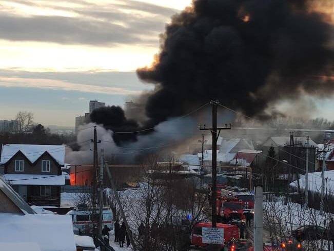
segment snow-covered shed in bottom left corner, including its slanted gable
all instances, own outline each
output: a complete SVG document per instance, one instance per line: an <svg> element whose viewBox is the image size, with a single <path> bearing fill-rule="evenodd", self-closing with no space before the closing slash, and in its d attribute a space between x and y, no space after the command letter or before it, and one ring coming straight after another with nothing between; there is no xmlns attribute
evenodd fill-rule
<svg viewBox="0 0 334 251"><path fill-rule="evenodd" d="M1 250L76 250L70 215L36 214L1 177L0 199Z"/></svg>

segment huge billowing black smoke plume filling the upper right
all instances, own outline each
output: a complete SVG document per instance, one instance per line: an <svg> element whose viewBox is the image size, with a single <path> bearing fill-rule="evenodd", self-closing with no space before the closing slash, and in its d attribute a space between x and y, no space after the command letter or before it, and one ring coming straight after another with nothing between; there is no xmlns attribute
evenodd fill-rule
<svg viewBox="0 0 334 251"><path fill-rule="evenodd" d="M332 93L332 27L303 0L194 0L167 25L151 68L156 85L146 115L154 123L218 99L245 115L268 117L269 103ZM305 91L305 92L303 92Z"/></svg>

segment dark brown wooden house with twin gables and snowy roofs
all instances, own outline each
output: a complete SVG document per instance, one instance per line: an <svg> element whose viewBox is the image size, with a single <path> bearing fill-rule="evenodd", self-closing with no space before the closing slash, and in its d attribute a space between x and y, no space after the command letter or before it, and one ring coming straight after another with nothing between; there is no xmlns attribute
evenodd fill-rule
<svg viewBox="0 0 334 251"><path fill-rule="evenodd" d="M30 205L60 206L63 145L3 145L3 178Z"/></svg>

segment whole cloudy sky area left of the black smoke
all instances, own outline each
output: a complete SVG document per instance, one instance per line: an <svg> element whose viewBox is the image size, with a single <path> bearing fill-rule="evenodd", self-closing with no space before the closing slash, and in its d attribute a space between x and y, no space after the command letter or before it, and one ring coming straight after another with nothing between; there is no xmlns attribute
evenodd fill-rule
<svg viewBox="0 0 334 251"><path fill-rule="evenodd" d="M0 119L20 110L73 126L88 101L124 102L152 87L150 65L170 16L191 0L0 0Z"/></svg>

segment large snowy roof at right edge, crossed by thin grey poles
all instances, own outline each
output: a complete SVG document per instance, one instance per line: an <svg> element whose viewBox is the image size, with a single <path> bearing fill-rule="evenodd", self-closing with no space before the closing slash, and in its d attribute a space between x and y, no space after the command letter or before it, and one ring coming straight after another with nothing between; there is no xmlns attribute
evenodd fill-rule
<svg viewBox="0 0 334 251"><path fill-rule="evenodd" d="M334 170L325 171L325 193L334 193ZM299 179L301 189L305 187L305 176L301 175ZM290 183L291 186L297 187L297 180ZM308 190L313 192L321 191L321 172L308 174Z"/></svg>

